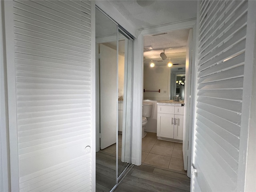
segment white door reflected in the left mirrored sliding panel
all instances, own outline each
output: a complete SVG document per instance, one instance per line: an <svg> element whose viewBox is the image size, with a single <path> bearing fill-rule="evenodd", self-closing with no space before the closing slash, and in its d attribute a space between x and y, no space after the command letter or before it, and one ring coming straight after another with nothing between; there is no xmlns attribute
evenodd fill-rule
<svg viewBox="0 0 256 192"><path fill-rule="evenodd" d="M116 50L100 44L100 149L116 143L117 62Z"/></svg>

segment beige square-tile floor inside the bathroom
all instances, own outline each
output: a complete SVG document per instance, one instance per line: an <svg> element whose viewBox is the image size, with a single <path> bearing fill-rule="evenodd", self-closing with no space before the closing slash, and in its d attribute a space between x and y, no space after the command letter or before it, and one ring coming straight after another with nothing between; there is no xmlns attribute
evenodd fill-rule
<svg viewBox="0 0 256 192"><path fill-rule="evenodd" d="M156 133L147 132L142 139L142 164L186 174L182 143L158 140Z"/></svg>

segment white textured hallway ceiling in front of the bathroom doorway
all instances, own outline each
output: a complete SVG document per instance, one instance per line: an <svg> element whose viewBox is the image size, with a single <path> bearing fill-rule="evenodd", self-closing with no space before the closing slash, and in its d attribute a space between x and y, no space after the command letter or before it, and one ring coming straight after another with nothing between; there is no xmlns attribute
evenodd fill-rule
<svg viewBox="0 0 256 192"><path fill-rule="evenodd" d="M196 0L110 0L137 29L196 18ZM138 4L139 3L139 4Z"/></svg>

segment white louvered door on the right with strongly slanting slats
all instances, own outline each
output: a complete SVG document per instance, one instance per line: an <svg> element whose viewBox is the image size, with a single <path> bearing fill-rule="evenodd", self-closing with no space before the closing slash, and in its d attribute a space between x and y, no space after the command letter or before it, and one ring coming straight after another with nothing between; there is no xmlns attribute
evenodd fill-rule
<svg viewBox="0 0 256 192"><path fill-rule="evenodd" d="M200 1L192 191L236 191L247 1Z"/></svg>

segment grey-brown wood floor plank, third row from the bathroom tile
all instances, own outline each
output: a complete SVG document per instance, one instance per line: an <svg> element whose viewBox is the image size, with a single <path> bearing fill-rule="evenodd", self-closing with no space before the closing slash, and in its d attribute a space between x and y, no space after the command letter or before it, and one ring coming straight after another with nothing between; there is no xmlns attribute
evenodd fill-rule
<svg viewBox="0 0 256 192"><path fill-rule="evenodd" d="M126 177L122 180L122 183L126 183L130 186L137 186L139 188L145 189L146 191L153 192L187 192L187 190L161 184L151 180L138 178L132 175L126 175Z"/></svg>

